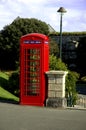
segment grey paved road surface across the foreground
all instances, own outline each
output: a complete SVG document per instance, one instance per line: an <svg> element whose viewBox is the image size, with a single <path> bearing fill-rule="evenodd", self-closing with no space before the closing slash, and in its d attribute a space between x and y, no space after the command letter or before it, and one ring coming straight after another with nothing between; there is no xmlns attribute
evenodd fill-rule
<svg viewBox="0 0 86 130"><path fill-rule="evenodd" d="M86 110L0 103L0 130L86 130Z"/></svg>

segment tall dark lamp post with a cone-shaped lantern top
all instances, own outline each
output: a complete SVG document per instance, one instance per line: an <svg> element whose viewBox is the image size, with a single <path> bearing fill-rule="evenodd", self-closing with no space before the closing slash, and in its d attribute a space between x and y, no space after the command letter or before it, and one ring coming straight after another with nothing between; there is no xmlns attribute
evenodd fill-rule
<svg viewBox="0 0 86 130"><path fill-rule="evenodd" d="M60 13L60 59L62 60L62 15L67 11L63 7L60 7L57 12Z"/></svg>

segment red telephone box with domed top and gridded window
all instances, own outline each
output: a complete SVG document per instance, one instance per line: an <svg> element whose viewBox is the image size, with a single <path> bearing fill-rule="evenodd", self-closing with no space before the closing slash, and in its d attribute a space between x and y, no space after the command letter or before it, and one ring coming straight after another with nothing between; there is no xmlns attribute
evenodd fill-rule
<svg viewBox="0 0 86 130"><path fill-rule="evenodd" d="M48 37L31 33L20 43L20 104L44 106L47 96L45 72L49 69Z"/></svg>

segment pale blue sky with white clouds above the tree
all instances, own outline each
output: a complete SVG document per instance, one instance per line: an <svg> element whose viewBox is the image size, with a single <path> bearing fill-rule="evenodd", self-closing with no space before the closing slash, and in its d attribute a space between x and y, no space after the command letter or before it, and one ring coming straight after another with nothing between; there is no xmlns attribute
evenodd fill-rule
<svg viewBox="0 0 86 130"><path fill-rule="evenodd" d="M0 0L0 30L19 16L44 21L59 32L59 7L67 10L63 31L86 31L86 0Z"/></svg>

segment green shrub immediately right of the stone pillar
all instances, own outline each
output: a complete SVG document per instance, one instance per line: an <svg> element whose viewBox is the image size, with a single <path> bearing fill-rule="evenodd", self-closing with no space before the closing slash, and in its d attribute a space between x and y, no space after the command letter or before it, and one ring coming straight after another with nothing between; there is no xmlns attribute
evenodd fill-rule
<svg viewBox="0 0 86 130"><path fill-rule="evenodd" d="M79 74L69 71L66 76L66 98L68 100L68 106L74 106L77 100L76 82L79 78Z"/></svg>

